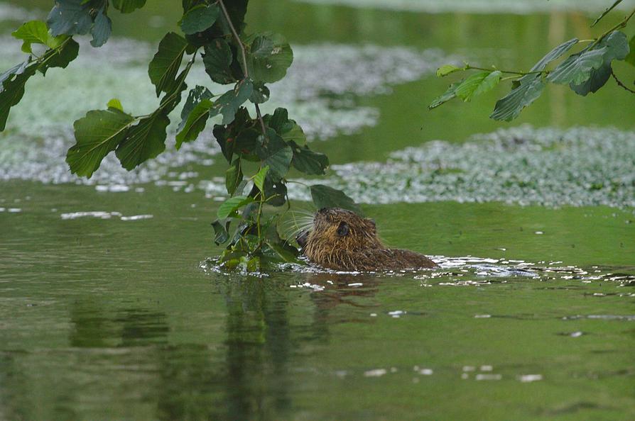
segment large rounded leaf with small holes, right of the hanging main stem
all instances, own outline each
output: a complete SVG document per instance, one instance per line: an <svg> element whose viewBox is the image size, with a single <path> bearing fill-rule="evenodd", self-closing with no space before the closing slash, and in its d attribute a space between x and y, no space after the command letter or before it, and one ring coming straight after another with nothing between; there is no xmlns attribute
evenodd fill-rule
<svg viewBox="0 0 635 421"><path fill-rule="evenodd" d="M277 82L287 73L293 62L293 51L282 35L261 33L246 40L246 64L254 82Z"/></svg>

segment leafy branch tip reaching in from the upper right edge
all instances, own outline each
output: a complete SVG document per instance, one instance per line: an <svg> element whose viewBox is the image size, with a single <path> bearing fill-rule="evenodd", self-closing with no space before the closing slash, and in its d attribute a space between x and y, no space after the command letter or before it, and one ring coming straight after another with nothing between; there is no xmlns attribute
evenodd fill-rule
<svg viewBox="0 0 635 421"><path fill-rule="evenodd" d="M622 0L614 1L591 26L595 26L620 3L622 3ZM445 64L438 69L438 77L445 77L455 72L472 70L477 70L478 72L451 84L444 94L430 103L428 108L436 108L455 98L470 102L475 96L491 91L496 85L504 81L511 82L511 91L496 102L494 111L489 116L494 120L514 120L514 118L519 116L523 108L529 106L541 96L543 89L548 83L568 85L576 94L586 96L602 88L613 77L619 86L622 86L631 94L635 94L634 89L629 88L618 79L612 68L614 60L624 60L635 65L635 36L629 42L626 34L619 30L626 27L634 15L635 10L631 11L617 25L597 38L590 40L572 38L558 45L526 72L501 70L495 66L487 69L475 67L469 63L465 63L463 67ZM586 47L570 55L553 69L547 69L548 64L560 59L560 57L563 57L563 55L579 44L586 44Z"/></svg>

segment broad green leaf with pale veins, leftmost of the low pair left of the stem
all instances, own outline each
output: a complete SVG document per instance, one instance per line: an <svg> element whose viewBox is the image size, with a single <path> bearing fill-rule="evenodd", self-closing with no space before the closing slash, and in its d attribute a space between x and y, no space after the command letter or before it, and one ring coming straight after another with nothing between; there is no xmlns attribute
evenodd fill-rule
<svg viewBox="0 0 635 421"><path fill-rule="evenodd" d="M124 140L134 118L116 108L88 111L75 121L76 143L67 152L70 172L90 178L102 159Z"/></svg>

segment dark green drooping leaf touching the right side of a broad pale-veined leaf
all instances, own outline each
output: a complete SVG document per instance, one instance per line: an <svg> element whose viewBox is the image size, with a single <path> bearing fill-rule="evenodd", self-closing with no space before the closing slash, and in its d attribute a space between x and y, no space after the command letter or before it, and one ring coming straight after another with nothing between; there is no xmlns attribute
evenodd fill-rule
<svg viewBox="0 0 635 421"><path fill-rule="evenodd" d="M121 167L130 171L163 152L168 124L170 119L165 112L157 110L131 127L115 152Z"/></svg>

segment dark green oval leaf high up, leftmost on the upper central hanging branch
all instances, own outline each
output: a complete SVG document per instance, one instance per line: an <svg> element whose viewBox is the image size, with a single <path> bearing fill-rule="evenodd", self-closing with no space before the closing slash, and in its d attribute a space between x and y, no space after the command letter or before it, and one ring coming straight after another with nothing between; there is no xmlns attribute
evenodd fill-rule
<svg viewBox="0 0 635 421"><path fill-rule="evenodd" d="M148 67L148 74L153 85L156 86L156 96L161 91L172 91L176 85L176 73L183 61L188 42L180 35L173 32L165 34L158 51L154 55Z"/></svg>

